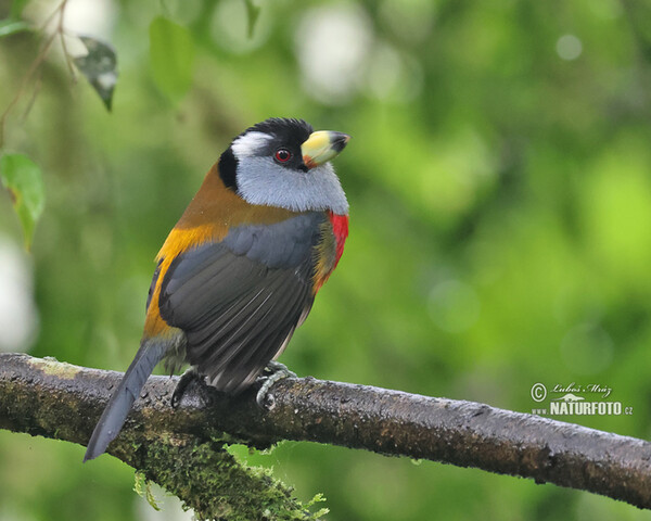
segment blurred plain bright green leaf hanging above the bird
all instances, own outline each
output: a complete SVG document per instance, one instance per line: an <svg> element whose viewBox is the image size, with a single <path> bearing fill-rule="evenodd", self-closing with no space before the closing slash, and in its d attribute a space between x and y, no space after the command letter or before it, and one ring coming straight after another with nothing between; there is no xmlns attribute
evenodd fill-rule
<svg viewBox="0 0 651 521"><path fill-rule="evenodd" d="M184 27L157 16L150 25L150 60L156 86L179 101L192 85L194 45Z"/></svg>

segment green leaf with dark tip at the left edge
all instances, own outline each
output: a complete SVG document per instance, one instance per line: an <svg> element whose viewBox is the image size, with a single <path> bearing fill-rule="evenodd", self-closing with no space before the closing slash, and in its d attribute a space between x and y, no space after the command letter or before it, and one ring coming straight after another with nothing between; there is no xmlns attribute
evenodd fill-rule
<svg viewBox="0 0 651 521"><path fill-rule="evenodd" d="M46 204L41 170L26 155L5 154L0 158L0 182L11 194L29 250L34 227Z"/></svg>

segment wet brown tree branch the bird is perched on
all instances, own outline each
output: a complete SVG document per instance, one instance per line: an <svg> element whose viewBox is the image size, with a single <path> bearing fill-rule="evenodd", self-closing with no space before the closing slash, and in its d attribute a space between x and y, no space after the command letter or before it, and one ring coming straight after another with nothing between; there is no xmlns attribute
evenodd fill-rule
<svg viewBox="0 0 651 521"><path fill-rule="evenodd" d="M120 378L119 372L0 354L0 428L85 445ZM483 404L312 378L279 381L270 411L256 406L255 390L229 397L200 384L190 385L175 410L169 396L177 381L150 378L110 447L145 474L155 452L151 447L161 444L181 447L192 440L217 443L213 448L219 450L235 439L257 447L296 440L476 467L651 508L651 444L641 440ZM148 475L176 493L158 474Z"/></svg>

